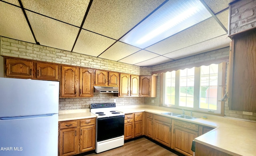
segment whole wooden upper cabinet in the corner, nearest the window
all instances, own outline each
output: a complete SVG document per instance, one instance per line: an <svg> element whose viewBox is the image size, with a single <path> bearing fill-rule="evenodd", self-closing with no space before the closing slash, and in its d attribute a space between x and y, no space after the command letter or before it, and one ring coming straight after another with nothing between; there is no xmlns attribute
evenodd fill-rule
<svg viewBox="0 0 256 156"><path fill-rule="evenodd" d="M140 76L140 96L156 97L156 76Z"/></svg>

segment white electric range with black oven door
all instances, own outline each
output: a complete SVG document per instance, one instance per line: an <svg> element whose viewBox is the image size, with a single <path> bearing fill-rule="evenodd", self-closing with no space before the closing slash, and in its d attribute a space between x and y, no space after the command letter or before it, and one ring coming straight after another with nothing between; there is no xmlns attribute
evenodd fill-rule
<svg viewBox="0 0 256 156"><path fill-rule="evenodd" d="M116 111L116 103L92 103L96 115L96 153L124 145L124 113Z"/></svg>

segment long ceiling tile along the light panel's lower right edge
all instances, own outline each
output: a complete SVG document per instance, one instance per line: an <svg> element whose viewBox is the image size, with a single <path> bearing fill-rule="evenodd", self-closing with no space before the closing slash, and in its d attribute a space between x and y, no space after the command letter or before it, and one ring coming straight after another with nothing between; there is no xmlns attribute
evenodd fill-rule
<svg viewBox="0 0 256 156"><path fill-rule="evenodd" d="M226 31L220 24L214 18L209 18L146 48L146 50L164 55L224 34Z"/></svg>

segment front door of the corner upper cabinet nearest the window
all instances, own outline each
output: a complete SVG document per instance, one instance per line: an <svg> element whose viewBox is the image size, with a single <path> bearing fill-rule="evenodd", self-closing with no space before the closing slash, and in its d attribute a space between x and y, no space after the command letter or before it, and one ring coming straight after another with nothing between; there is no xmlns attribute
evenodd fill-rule
<svg viewBox="0 0 256 156"><path fill-rule="evenodd" d="M140 76L140 96L150 97L151 76Z"/></svg>

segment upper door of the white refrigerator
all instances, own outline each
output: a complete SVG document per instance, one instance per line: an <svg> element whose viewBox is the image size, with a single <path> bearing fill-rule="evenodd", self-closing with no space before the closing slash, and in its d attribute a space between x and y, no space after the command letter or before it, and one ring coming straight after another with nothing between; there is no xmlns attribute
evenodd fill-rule
<svg viewBox="0 0 256 156"><path fill-rule="evenodd" d="M0 117L58 113L59 82L0 78Z"/></svg>

